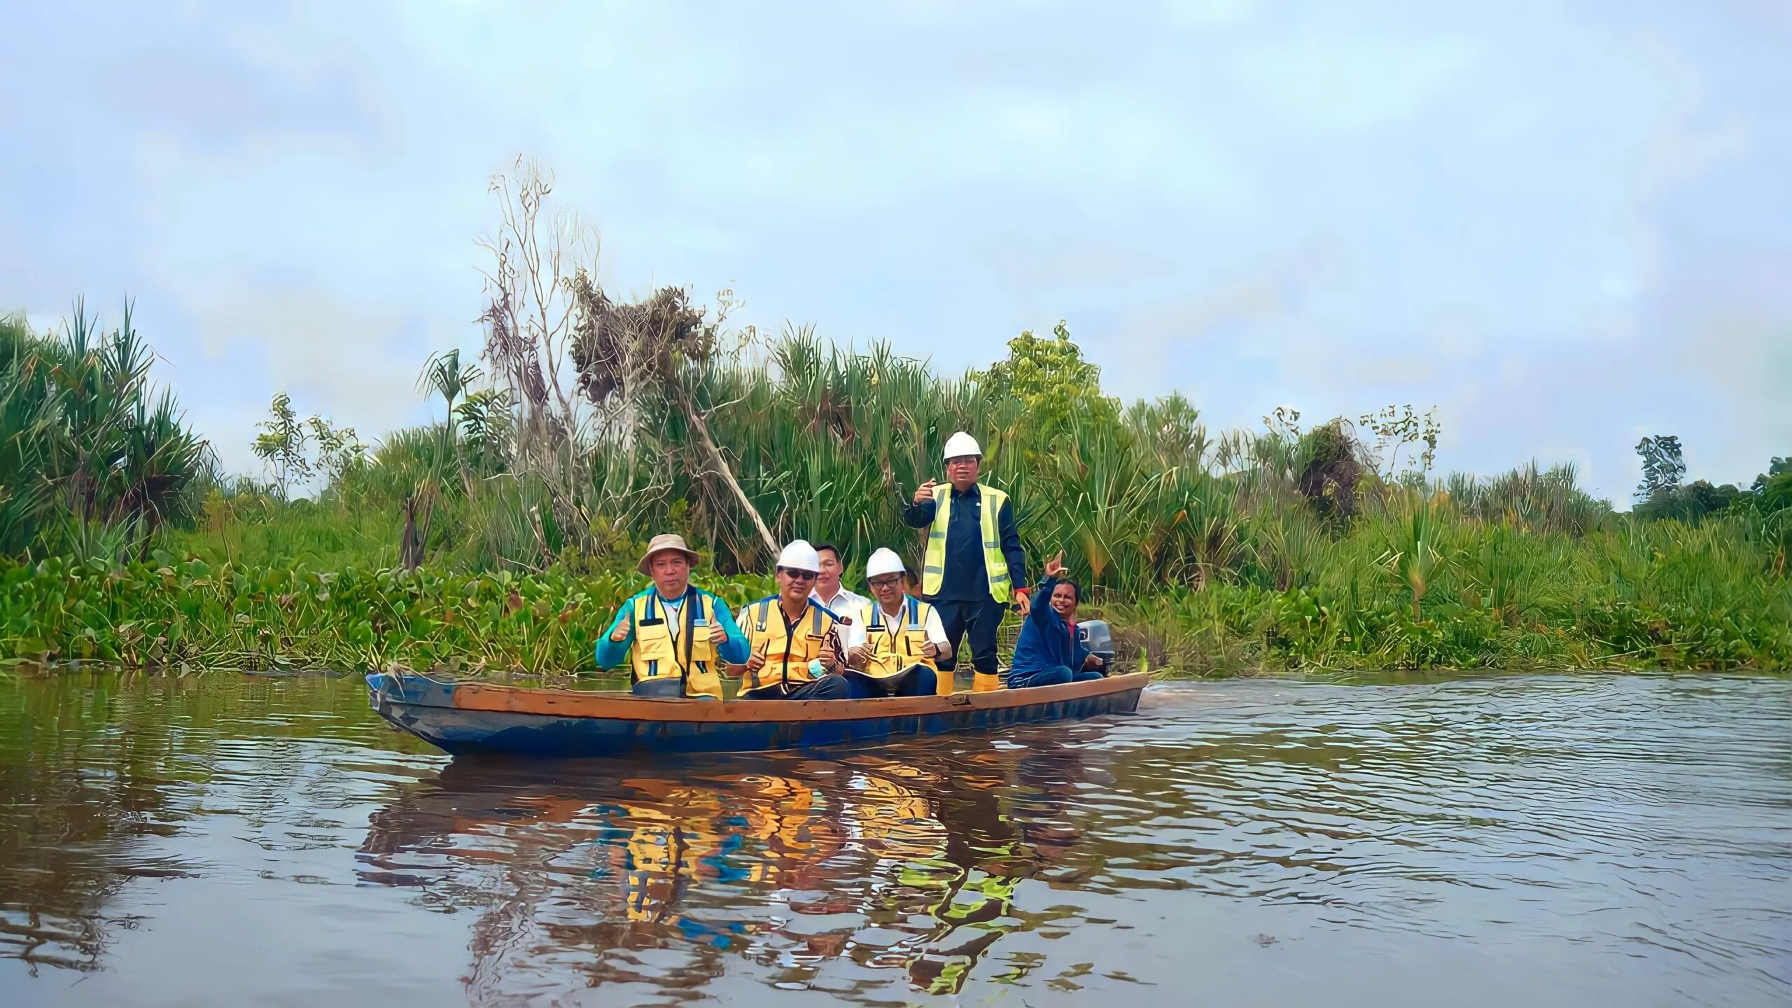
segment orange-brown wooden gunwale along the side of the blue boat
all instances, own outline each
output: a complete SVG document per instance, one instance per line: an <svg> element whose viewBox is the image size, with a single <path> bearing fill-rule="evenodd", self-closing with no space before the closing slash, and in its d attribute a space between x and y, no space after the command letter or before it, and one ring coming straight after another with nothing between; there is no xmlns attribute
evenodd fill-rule
<svg viewBox="0 0 1792 1008"><path fill-rule="evenodd" d="M380 674L380 673L376 673ZM1127 673L1100 680L1043 685L1025 689L996 689L987 692L953 692L950 696L883 696L869 700L688 700L645 698L582 692L570 689L514 687L495 683L441 683L448 689L452 705L418 703L405 696L403 680L416 673L385 673L376 692L389 701L414 707L443 707L468 712L538 714L548 717L593 717L613 721L658 723L765 723L765 721L867 721L876 717L914 717L968 710L1002 710L1009 707L1036 707L1064 703L1107 694L1142 691L1150 683L1150 673ZM373 676L369 676L371 680ZM371 685L371 683L369 683ZM394 689L396 685L396 689Z"/></svg>

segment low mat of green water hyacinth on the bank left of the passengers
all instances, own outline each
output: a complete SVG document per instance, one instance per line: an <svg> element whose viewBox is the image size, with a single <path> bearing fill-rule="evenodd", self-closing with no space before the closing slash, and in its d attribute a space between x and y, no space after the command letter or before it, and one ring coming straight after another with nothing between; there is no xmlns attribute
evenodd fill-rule
<svg viewBox="0 0 1792 1008"><path fill-rule="evenodd" d="M152 669L593 671L597 637L640 576L281 570L159 554L113 567L63 558L4 569L0 651ZM729 604L769 581L706 583Z"/></svg>

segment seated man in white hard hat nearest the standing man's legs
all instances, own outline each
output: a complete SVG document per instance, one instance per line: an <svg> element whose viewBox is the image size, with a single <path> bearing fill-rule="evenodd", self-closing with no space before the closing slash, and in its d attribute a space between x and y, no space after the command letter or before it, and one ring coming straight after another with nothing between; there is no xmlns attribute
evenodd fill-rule
<svg viewBox="0 0 1792 1008"><path fill-rule="evenodd" d="M939 660L952 656L952 640L939 613L903 588L909 569L896 551L880 549L866 561L873 599L858 606L844 626L846 678L855 694L934 696L952 692L952 676L939 673Z"/></svg>

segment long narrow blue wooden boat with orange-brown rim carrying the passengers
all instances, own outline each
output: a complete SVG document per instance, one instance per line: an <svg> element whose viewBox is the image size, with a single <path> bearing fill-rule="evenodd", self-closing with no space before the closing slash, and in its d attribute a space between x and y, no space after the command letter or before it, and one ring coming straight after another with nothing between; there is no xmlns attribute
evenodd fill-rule
<svg viewBox="0 0 1792 1008"><path fill-rule="evenodd" d="M1131 673L952 696L715 701L373 673L367 700L380 717L450 753L602 757L794 750L1131 714L1147 682L1147 673Z"/></svg>

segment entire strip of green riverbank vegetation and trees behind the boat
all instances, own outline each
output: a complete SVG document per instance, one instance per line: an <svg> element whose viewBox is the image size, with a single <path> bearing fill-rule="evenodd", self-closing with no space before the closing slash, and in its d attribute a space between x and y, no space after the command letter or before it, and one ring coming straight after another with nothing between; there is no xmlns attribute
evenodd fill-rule
<svg viewBox="0 0 1792 1008"><path fill-rule="evenodd" d="M1568 466L1439 477L1441 430L1410 407L1213 432L1181 396L1122 404L1063 325L941 377L733 328L726 292L615 301L543 251L566 233L536 226L548 183L498 194L484 352L419 382L446 420L364 445L280 396L231 434L267 481L219 475L151 398L129 321L99 344L79 314L63 337L0 330L0 653L590 669L656 531L690 536L735 601L769 590L787 538L914 563L901 506L968 429L1029 556L1064 549L1088 610L1156 669L1792 665L1787 459L1749 488L1683 486L1656 438L1618 513Z"/></svg>

